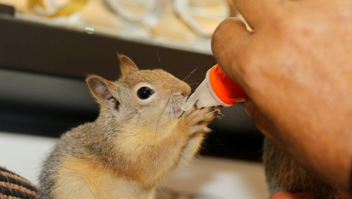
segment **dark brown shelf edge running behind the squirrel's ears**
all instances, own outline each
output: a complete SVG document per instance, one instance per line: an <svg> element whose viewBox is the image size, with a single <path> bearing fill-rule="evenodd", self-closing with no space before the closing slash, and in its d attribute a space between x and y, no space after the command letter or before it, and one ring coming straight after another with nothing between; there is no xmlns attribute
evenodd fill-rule
<svg viewBox="0 0 352 199"><path fill-rule="evenodd" d="M116 79L116 53L130 57L141 69L163 68L183 79L200 65L205 74L212 56L125 41L16 20L0 15L0 67L84 78L94 73ZM160 61L159 61L160 59Z"/></svg>

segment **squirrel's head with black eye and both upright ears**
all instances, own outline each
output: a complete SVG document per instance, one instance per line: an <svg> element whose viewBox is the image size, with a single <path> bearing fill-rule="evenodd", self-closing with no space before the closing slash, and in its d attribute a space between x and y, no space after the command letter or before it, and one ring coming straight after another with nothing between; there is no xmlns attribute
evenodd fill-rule
<svg viewBox="0 0 352 199"><path fill-rule="evenodd" d="M161 69L139 70L125 55L121 77L109 81L89 75L87 84L100 104L100 115L124 130L155 130L180 117L190 86ZM123 126L122 126L123 125Z"/></svg>

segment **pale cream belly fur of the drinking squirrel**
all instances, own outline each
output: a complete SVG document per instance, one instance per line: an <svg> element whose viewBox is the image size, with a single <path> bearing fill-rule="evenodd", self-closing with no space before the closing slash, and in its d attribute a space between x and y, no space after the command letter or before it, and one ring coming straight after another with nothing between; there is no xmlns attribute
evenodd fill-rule
<svg viewBox="0 0 352 199"><path fill-rule="evenodd" d="M153 190L84 160L66 158L56 172L51 195L56 199L148 199L152 198Z"/></svg>

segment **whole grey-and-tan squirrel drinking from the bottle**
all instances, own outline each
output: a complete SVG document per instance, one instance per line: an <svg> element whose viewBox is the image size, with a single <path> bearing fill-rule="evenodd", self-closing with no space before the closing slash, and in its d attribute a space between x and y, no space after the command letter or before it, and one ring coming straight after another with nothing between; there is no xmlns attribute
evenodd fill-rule
<svg viewBox="0 0 352 199"><path fill-rule="evenodd" d="M217 108L183 113L186 82L118 57L117 81L87 77L99 117L58 140L39 176L40 199L152 199L158 182L194 157L209 122L222 116Z"/></svg>

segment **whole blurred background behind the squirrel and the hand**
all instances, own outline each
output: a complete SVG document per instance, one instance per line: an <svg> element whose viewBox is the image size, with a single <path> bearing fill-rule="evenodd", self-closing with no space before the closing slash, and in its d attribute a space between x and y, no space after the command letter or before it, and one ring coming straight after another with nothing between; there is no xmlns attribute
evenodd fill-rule
<svg viewBox="0 0 352 199"><path fill-rule="evenodd" d="M117 52L180 79L196 69L194 91L216 64L211 36L229 16L242 18L231 0L0 0L0 165L36 183L60 134L98 116L84 78L117 79ZM263 136L243 103L222 113L202 158L159 198L268 198Z"/></svg>

